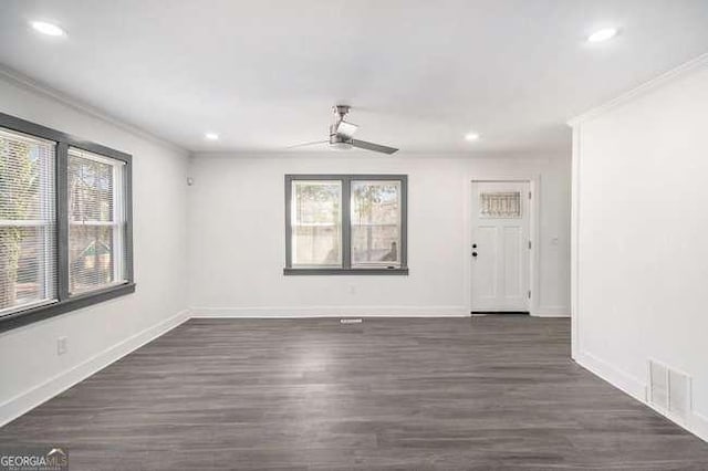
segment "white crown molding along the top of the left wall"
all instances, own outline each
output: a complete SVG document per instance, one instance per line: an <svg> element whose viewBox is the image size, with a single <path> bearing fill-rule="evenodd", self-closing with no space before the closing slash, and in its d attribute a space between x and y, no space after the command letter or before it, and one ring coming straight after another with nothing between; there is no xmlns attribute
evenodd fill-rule
<svg viewBox="0 0 708 471"><path fill-rule="evenodd" d="M156 134L146 132L136 125L127 123L115 116L112 116L111 114L102 109L98 109L92 105L88 105L85 102L82 102L81 100L77 100L71 95L60 92L56 88L53 88L43 82L35 81L34 78L31 78L22 74L21 72L18 72L14 69L10 69L3 64L0 64L0 78L3 78L10 82L11 84L18 85L24 90L29 90L30 92L39 93L42 96L45 96L50 100L61 103L62 105L69 106L83 114L90 115L91 117L101 119L105 123L108 123L122 130L131 133L143 139L150 140L155 144L158 144L163 147L167 147L171 150L178 151L184 155L189 154L188 149L173 143L171 140L167 140Z"/></svg>

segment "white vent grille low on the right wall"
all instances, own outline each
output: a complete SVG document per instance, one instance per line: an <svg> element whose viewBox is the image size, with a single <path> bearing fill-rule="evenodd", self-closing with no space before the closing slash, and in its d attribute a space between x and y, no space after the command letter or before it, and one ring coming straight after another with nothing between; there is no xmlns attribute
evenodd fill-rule
<svg viewBox="0 0 708 471"><path fill-rule="evenodd" d="M691 408L690 377L649 360L649 402L671 417L687 420Z"/></svg>

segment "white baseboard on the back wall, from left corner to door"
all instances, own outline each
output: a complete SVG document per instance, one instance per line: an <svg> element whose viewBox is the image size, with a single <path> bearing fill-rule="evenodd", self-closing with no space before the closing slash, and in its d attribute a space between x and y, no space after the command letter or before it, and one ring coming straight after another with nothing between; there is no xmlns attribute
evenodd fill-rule
<svg viewBox="0 0 708 471"><path fill-rule="evenodd" d="M465 306L192 307L192 317L467 317Z"/></svg>

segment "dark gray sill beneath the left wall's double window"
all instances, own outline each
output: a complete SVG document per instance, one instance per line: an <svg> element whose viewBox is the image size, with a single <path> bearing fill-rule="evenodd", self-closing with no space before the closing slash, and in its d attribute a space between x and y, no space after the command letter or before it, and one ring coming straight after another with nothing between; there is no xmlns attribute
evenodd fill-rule
<svg viewBox="0 0 708 471"><path fill-rule="evenodd" d="M17 328L23 325L31 324L33 322L43 321L59 314L64 314L70 311L87 307L92 304L97 304L103 301L124 296L131 293L135 293L135 283L119 284L117 286L111 286L105 290L80 294L65 301L59 301L50 304L43 304L41 306L30 307L23 311L18 311L0 317L0 332Z"/></svg>

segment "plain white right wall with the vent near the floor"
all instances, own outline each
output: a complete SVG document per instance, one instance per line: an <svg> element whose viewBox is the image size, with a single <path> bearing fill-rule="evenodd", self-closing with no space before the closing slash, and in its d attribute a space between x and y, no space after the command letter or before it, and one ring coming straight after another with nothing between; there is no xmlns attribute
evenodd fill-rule
<svg viewBox="0 0 708 471"><path fill-rule="evenodd" d="M638 399L647 360L694 378L708 440L708 59L574 126L575 358Z"/></svg>

